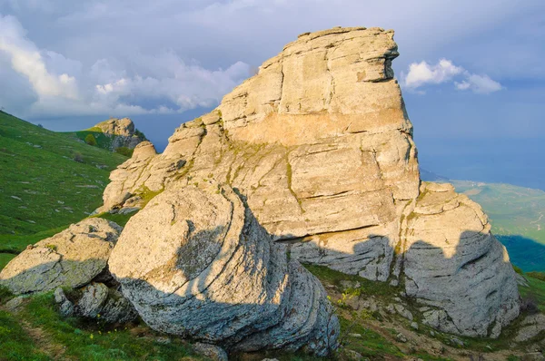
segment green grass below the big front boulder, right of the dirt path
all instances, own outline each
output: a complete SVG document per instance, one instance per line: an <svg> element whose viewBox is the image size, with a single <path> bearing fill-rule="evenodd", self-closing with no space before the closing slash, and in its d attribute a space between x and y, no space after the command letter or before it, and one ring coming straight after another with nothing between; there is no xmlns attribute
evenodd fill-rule
<svg viewBox="0 0 545 361"><path fill-rule="evenodd" d="M32 327L43 330L52 343L61 346L64 358L101 361L201 359L193 356L191 346L175 337L167 345L156 342L156 338L162 335L155 334L148 327L139 327L139 332L134 332L63 318L54 308L51 293L31 298L19 313Z"/></svg>

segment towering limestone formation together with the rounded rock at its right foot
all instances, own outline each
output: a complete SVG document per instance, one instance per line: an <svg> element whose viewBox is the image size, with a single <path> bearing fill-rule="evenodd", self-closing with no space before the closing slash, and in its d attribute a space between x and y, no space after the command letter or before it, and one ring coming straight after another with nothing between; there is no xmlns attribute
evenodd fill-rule
<svg viewBox="0 0 545 361"><path fill-rule="evenodd" d="M135 151L112 173L103 210L225 182L274 239L293 243L293 257L404 286L442 311L428 317L434 327L496 336L519 312L514 273L477 204L433 185L421 194L392 37L380 28L300 35L216 110L178 128L163 154ZM441 289L449 284L456 291Z"/></svg>

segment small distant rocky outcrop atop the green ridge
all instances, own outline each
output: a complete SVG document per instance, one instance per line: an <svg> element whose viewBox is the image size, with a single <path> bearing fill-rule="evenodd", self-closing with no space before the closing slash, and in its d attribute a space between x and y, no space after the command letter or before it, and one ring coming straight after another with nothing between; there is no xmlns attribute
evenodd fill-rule
<svg viewBox="0 0 545 361"><path fill-rule="evenodd" d="M92 129L100 130L112 139L110 151L115 151L119 147L134 149L140 142L145 141L144 134L137 132L134 122L129 118L110 118L94 125Z"/></svg>

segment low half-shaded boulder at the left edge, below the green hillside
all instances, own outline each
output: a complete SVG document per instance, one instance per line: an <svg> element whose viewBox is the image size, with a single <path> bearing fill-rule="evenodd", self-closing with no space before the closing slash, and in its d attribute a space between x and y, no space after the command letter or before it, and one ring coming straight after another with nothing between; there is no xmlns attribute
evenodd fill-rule
<svg viewBox="0 0 545 361"><path fill-rule="evenodd" d="M104 271L120 232L109 220L82 220L12 259L0 272L0 285L16 295L82 287Z"/></svg>

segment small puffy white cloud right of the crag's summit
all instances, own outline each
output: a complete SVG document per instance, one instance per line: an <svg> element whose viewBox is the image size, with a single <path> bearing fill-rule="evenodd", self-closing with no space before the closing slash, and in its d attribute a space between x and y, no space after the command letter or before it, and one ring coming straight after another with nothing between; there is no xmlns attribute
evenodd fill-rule
<svg viewBox="0 0 545 361"><path fill-rule="evenodd" d="M416 90L427 84L441 84L454 82L456 89L471 90L473 93L493 93L502 89L500 83L490 79L488 75L470 73L461 66L456 66L450 60L441 59L439 63L431 65L422 61L411 63L409 73L403 78L403 85L411 90ZM460 82L454 81L456 77L462 78ZM422 93L418 91L418 93Z"/></svg>

